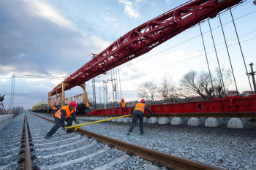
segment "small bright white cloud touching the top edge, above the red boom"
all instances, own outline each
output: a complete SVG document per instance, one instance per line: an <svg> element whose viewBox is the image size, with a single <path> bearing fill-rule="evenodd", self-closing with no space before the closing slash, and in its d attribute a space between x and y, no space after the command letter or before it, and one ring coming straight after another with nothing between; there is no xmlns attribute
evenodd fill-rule
<svg viewBox="0 0 256 170"><path fill-rule="evenodd" d="M125 13L126 15L128 15L129 18L135 18L135 19L137 19L137 18L140 17L140 13L138 12L138 8L139 8L139 7L138 7L138 5L137 5L137 3L140 2L140 0L139 0L139 1L136 1L136 2L135 2L135 5L132 4L131 1L127 1L127 0L118 0L118 1L125 5L125 6L124 6L124 13Z"/></svg>

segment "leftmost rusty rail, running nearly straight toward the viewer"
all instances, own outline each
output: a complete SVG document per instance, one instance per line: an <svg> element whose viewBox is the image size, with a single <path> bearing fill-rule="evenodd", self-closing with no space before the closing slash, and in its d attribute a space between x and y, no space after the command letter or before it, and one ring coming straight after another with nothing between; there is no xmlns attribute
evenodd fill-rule
<svg viewBox="0 0 256 170"><path fill-rule="evenodd" d="M29 133L28 133L28 125L27 125L27 120L26 120L26 115L25 115L25 120L24 120L24 129L25 129L25 147L24 147L24 159L25 161L23 162L23 169L25 170L32 170L33 165L32 165L32 160L31 160L31 152L30 152L30 146L29 146Z"/></svg>

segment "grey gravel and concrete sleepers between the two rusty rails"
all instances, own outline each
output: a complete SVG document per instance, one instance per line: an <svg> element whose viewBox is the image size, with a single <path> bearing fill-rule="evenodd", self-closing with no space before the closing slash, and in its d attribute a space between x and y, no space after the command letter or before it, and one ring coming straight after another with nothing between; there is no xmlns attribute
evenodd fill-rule
<svg viewBox="0 0 256 170"><path fill-rule="evenodd" d="M39 114L41 115L41 114ZM48 115L43 115L48 117ZM34 115L27 115L31 135L34 142L35 154L38 159L34 161L40 168L44 169L48 166L54 166L59 163L68 163L69 161L77 161L81 158L89 156L83 161L69 163L66 166L56 169L94 169L110 163L120 158L125 152L116 148L109 148L106 144L97 143L94 139L88 139L86 136L72 133L66 134L59 128L56 134L49 140L45 140L44 136L53 127L53 123L43 120ZM36 136L36 137L33 137ZM91 154L108 148L106 152L90 157ZM74 152L75 151L75 152ZM140 169L144 170L151 162L135 156L130 157L124 163L115 165L113 169ZM166 169L162 166L161 169Z"/></svg>

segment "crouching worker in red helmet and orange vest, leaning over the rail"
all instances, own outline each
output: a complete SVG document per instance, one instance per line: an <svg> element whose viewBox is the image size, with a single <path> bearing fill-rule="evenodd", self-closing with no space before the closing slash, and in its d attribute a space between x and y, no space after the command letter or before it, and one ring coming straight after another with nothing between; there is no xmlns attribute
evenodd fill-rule
<svg viewBox="0 0 256 170"><path fill-rule="evenodd" d="M68 127L72 126L73 120L75 123L79 123L75 117L75 107L77 107L77 104L75 101L71 101L68 106L61 107L61 109L54 114L55 125L53 125L53 128L51 128L46 134L45 139L50 139L50 136L52 136L60 127L62 127L62 130L65 131L65 121L67 122ZM72 132L74 131L71 128L67 129L67 133Z"/></svg>

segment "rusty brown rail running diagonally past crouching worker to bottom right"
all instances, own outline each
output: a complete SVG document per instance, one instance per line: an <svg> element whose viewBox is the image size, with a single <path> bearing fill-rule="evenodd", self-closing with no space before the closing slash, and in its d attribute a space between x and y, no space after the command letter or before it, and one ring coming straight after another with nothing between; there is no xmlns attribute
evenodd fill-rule
<svg viewBox="0 0 256 170"><path fill-rule="evenodd" d="M34 114L32 114L34 115ZM37 117L41 117L39 115L35 115ZM54 120L50 120L45 117L41 117L42 119L48 120L54 123ZM67 125L66 125L67 126ZM157 150L151 150L147 147L141 147L137 144L132 144L129 142L124 142L118 139L113 139L108 136L95 134L91 131L86 131L78 128L78 133L86 136L91 136L94 139L99 139L101 142L105 144L113 144L119 150L130 151L133 152L134 155L138 155L141 158L144 158L148 161L159 161L163 166L166 166L170 169L222 169L217 166L210 166L206 163L200 163L197 161L191 161L186 158L181 158L175 155L169 155L165 152L159 152ZM223 169L222 169L223 170Z"/></svg>

